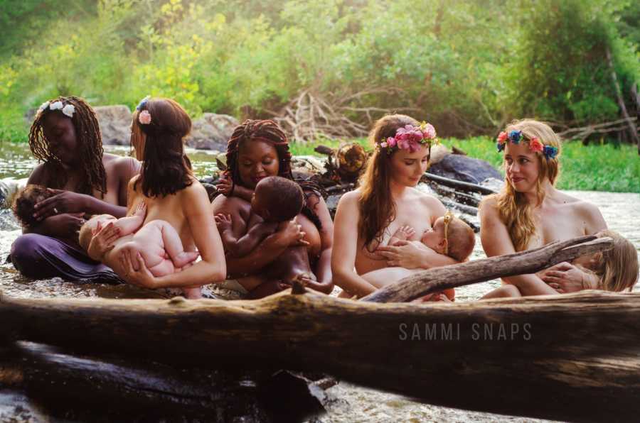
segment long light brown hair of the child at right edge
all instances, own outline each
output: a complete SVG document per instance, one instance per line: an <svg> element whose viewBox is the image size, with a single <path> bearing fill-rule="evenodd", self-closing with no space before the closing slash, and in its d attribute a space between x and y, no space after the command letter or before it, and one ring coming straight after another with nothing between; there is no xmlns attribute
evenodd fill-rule
<svg viewBox="0 0 640 423"><path fill-rule="evenodd" d="M600 288L605 291L631 291L638 282L638 253L634 244L624 236L608 229L596 234L599 238L613 238L614 246L596 256L594 273L600 278Z"/></svg>

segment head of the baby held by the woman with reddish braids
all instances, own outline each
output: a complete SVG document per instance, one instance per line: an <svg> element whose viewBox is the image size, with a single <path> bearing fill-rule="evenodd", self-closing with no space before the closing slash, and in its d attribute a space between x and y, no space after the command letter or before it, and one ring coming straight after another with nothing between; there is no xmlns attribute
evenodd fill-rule
<svg viewBox="0 0 640 423"><path fill-rule="evenodd" d="M293 219L304 206L304 192L296 182L286 177L270 176L255 186L251 209L270 222Z"/></svg>

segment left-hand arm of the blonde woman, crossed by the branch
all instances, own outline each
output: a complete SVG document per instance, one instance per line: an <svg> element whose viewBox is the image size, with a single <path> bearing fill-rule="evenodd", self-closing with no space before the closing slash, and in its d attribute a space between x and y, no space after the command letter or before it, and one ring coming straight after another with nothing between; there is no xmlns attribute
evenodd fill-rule
<svg viewBox="0 0 640 423"><path fill-rule="evenodd" d="M485 199L480 207L480 241L487 257L516 252L506 226L500 220L494 198ZM518 287L522 295L558 294L536 275L510 276L503 281Z"/></svg>

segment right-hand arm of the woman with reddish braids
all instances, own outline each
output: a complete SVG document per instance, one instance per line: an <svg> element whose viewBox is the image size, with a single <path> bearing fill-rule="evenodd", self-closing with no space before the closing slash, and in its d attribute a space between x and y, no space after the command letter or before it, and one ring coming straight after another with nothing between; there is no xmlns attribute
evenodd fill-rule
<svg viewBox="0 0 640 423"><path fill-rule="evenodd" d="M331 273L331 252L334 248L334 222L331 220L329 208L326 207L324 198L317 194L310 194L306 205L313 210L320 219L320 257L316 263L315 275L318 282L309 282L312 289L330 294L334 290L334 281Z"/></svg>

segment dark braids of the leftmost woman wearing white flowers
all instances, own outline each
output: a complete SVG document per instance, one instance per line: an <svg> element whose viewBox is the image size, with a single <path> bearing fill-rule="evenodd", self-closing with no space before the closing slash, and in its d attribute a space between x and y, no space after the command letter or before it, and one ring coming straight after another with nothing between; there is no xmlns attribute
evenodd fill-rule
<svg viewBox="0 0 640 423"><path fill-rule="evenodd" d="M89 104L78 97L57 97L50 103L61 101L64 105L72 104L75 107L73 117L70 118L75 128L75 136L78 140L79 167L81 173L80 185L76 187L81 194L92 195L93 190L100 192L104 198L107 192L107 173L102 164L102 136L98 126L95 112ZM43 161L48 185L52 188L63 188L68 180L68 173L58 157L53 155L49 148L49 141L44 135L43 122L49 114L58 113L65 116L60 110L44 109L38 114L31 124L29 131L29 148L33 157ZM66 116L65 116L66 117Z"/></svg>

